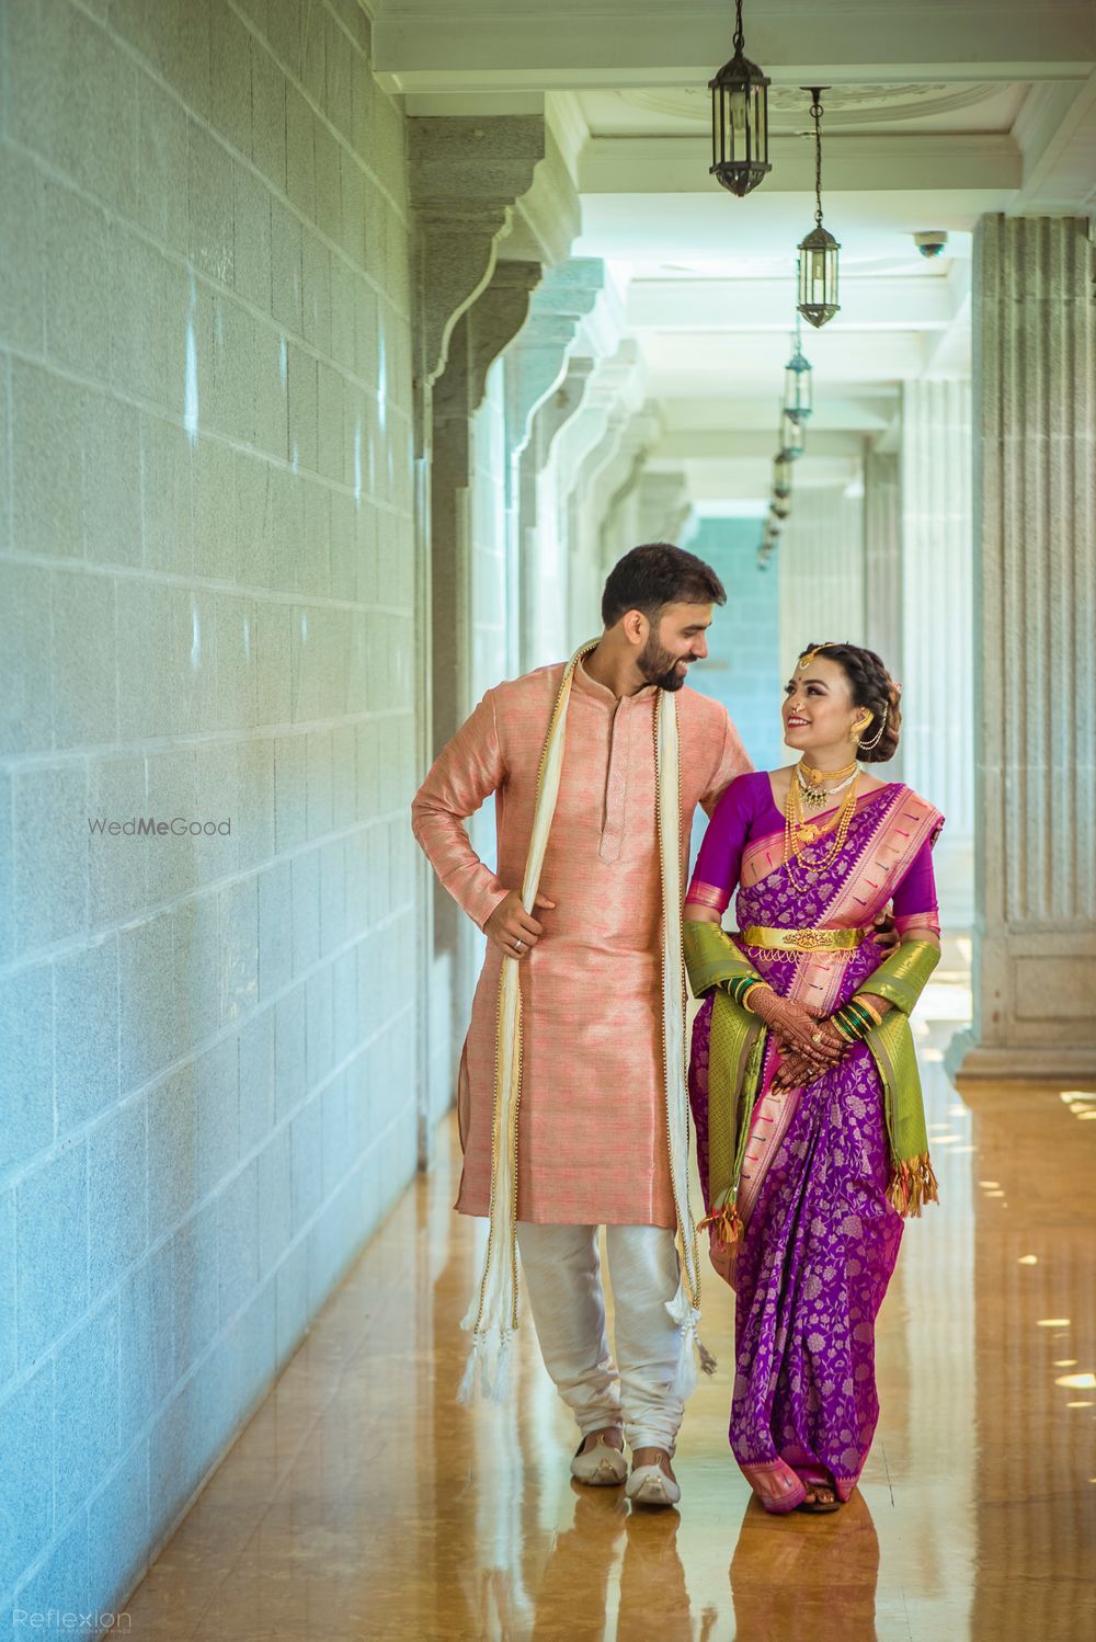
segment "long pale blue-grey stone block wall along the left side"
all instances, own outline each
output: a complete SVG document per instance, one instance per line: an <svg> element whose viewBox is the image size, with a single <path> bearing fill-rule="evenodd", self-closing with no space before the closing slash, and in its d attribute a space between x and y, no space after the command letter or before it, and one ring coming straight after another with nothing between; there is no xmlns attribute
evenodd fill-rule
<svg viewBox="0 0 1096 1642"><path fill-rule="evenodd" d="M404 128L353 0L0 26L0 1596L85 1612L415 1169Z"/></svg>

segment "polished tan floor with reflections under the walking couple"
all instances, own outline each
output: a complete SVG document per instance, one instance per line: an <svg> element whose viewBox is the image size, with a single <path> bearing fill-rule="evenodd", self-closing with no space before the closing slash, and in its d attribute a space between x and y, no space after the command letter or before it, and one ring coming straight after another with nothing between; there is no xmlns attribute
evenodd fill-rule
<svg viewBox="0 0 1096 1642"><path fill-rule="evenodd" d="M1096 1634L1096 1090L957 1095L945 980L920 1026L943 1205L912 1222L879 1317L860 1491L768 1517L727 1450L720 1356L686 1412L679 1511L568 1476L532 1327L509 1409L454 1404L481 1228L453 1144L394 1212L126 1604L151 1642L960 1642ZM952 1016L948 1020L948 1016Z"/></svg>

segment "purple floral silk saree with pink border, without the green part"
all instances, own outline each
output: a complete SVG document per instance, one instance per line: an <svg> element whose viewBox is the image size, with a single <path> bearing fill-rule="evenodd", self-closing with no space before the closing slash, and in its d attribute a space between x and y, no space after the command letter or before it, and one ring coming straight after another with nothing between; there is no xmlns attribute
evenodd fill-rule
<svg viewBox="0 0 1096 1642"><path fill-rule="evenodd" d="M938 811L909 788L888 788L858 810L829 867L811 867L814 851L801 857L797 878L814 877L804 888L788 877L783 839L751 842L742 862L738 923L866 928L901 877L904 857L894 855L886 870L888 849L906 849L902 834L912 849L938 826ZM848 1002L881 961L871 939L852 952L822 954L732 939L765 980L817 1015ZM694 1021L689 1067L707 1210L712 1007L709 995ZM875 1437L875 1319L904 1225L891 1200L884 1092L866 1043L802 1089L773 1090L778 1066L779 1051L768 1039L737 1192L730 1447L751 1481L751 1473L784 1461L807 1484L832 1476L837 1494L848 1499Z"/></svg>

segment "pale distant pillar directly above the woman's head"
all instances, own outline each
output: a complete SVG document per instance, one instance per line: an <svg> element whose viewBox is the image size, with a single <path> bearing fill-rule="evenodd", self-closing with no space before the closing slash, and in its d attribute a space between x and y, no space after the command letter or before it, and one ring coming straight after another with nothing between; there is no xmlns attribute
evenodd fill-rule
<svg viewBox="0 0 1096 1642"><path fill-rule="evenodd" d="M784 678L812 640L865 642L863 498L845 489L801 486L792 496L776 553Z"/></svg>

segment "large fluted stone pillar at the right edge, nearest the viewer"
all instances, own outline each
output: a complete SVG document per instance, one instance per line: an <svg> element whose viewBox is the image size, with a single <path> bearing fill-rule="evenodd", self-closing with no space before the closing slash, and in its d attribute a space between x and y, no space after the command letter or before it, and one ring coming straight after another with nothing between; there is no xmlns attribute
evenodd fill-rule
<svg viewBox="0 0 1096 1642"><path fill-rule="evenodd" d="M975 1025L963 1077L1096 1077L1096 307L1081 217L975 235Z"/></svg>

